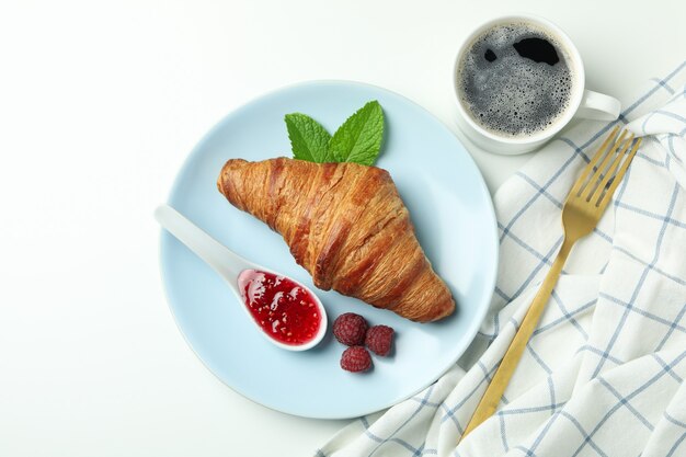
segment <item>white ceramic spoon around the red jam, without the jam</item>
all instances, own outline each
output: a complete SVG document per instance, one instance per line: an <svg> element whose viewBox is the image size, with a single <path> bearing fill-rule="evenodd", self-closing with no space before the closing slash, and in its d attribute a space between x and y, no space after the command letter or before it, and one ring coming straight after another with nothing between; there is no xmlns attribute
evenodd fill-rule
<svg viewBox="0 0 686 457"><path fill-rule="evenodd" d="M188 219L186 219L183 215L181 215L169 205L159 206L155 210L155 218L164 229L167 229L171 235L176 237L179 241L184 243L191 251L193 251L198 258L204 260L209 266L211 266L217 273L219 273L221 277L226 279L231 290L233 290L233 294L241 302L243 310L250 317L250 321L258 328L260 333L265 335L265 338L273 344L288 351L306 351L315 347L322 340L324 333L327 332L327 311L319 300L319 297L317 297L317 295L315 295L312 290L310 290L308 287L304 286L293 278L288 278L287 276L278 274L272 270L247 261L245 259L230 251L228 248L211 238L199 227L191 222ZM241 278L241 282L243 284L247 284L247 282L251 278L256 278L258 281L260 281L260 278L264 278L264 275L260 276L260 272L266 273L267 275L272 274L277 276L276 281L279 283L282 281L291 281L297 287L300 287L302 290L309 294L309 296L312 298L311 301L316 306L316 309L312 312L319 313L320 317L319 328L311 340L308 340L301 344L286 344L276 340L274 336L272 336L272 332L270 332L267 329L264 329L258 323L251 311L248 309L248 305L245 304L243 294L239 289L239 277ZM261 284L258 284L258 286L260 285ZM279 321L277 320L276 322L278 325Z"/></svg>

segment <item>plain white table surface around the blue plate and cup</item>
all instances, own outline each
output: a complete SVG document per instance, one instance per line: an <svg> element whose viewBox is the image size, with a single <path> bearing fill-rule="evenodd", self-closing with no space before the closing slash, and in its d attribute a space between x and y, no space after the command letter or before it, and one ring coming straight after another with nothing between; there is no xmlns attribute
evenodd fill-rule
<svg viewBox="0 0 686 457"><path fill-rule="evenodd" d="M211 125L288 83L370 82L456 130L456 47L510 3L1 2L0 456L308 456L342 427L202 365L164 301L151 212ZM640 4L516 8L570 34L588 88L626 96L684 58L686 3ZM491 190L528 159L468 149Z"/></svg>

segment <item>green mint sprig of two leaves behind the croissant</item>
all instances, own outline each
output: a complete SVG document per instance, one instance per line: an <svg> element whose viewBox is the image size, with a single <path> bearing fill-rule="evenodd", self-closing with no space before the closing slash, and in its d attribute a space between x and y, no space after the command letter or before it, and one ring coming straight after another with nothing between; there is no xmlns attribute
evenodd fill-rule
<svg viewBox="0 0 686 457"><path fill-rule="evenodd" d="M371 165L381 150L384 111L376 100L357 110L333 136L302 113L286 114L285 121L295 159Z"/></svg>

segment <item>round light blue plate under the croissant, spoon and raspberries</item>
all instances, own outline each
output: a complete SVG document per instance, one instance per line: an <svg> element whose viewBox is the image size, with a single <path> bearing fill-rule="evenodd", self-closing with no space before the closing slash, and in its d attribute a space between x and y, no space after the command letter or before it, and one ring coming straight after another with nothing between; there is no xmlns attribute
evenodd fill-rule
<svg viewBox="0 0 686 457"><path fill-rule="evenodd" d="M240 107L191 153L169 203L238 254L313 288L281 236L232 207L217 192L216 180L230 158L290 157L285 114L309 114L333 133L370 100L378 100L386 114L387 135L377 165L391 173L420 243L458 304L454 316L420 324L335 292L319 290L330 322L353 311L370 324L396 329L395 356L374 356L371 373L342 370L339 361L344 346L330 333L304 353L270 344L224 281L162 232L164 288L188 344L229 387L278 411L308 418L355 418L411 397L464 353L491 299L498 264L495 217L479 170L457 138L428 112L373 85L310 82Z"/></svg>

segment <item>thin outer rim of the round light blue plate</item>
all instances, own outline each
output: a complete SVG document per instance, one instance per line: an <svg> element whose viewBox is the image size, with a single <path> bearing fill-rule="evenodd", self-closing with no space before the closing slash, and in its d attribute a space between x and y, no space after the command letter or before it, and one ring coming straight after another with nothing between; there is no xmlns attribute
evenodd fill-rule
<svg viewBox="0 0 686 457"><path fill-rule="evenodd" d="M371 90L376 90L379 92L385 92L390 94L391 96L396 96L398 99L401 99L403 102L412 105L414 108L423 112L426 116L428 116L430 118L432 118L435 123L437 123L437 125L439 125L439 127L445 130L447 134L449 134L451 137L454 137L454 139L462 147L462 149L465 149L466 152L466 159L468 161L468 163L470 164L470 167L473 168L473 171L476 171L477 176L478 176L478 182L479 182L479 191L483 192L484 195L487 196L485 201L487 201L487 206L488 206L488 216L491 218L492 221L492 230L490 230L491 236L490 238L490 242L493 245L493 263L492 263L492 269L490 271L488 271L488 277L485 278L485 281L483 282L484 284L484 288L490 290L484 294L484 298L482 304L479 304L478 309L475 311L475 316L476 318L473 319L473 321L471 322L471 324L467 328L467 330L464 332L464 334L468 335L469 338L465 338L464 339L464 343L461 344L461 347L459 347L458 351L456 351L457 356L449 363L447 364L447 367L445 368L441 368L439 370L437 370L437 374L435 376L431 376L431 380L427 381L426 384L422 384L420 388L412 390L411 392L401 396L401 398L397 398L397 399L392 399L390 400L389 403L384 403L382 407L374 407L371 409L366 408L366 409L361 409L363 411L361 411L359 413L355 413L354 415L348 414L312 414L312 413L302 413L302 412L298 412L297 410L294 409L288 409L288 408L277 408L274 405L270 405L270 404L264 404L261 401L259 401L258 399L254 398L254 396L247 393L245 391L243 391L243 389L238 388L236 386L231 386L229 385L225 379L222 379L217 373L215 373L214 369L211 369L208 364L203 359L203 357L201 357L201 355L197 353L197 351L195 350L195 347L193 346L193 344L191 344L191 341L188 340L188 336L186 335L186 333L184 332L183 328L181 327L181 323L179 322L179 319L176 317L176 315L174 313L174 310L172 308L172 297L170 294L170 286L169 286L169 277L168 274L165 274L165 270L164 270L164 256L163 256L163 243L164 243L164 238L165 238L165 230L163 228L160 228L160 236L159 236L159 242L158 242L158 267L159 267L159 274L160 277L162 279L162 289L163 289L163 294L164 294L164 299L167 301L167 307L169 312L171 313L173 320L174 320L174 324L176 325L176 329L179 330L179 332L181 333L181 335L183 336L186 345L191 349L191 351L193 351L193 353L195 354L195 356L197 357L197 359L203 364L203 366L205 366L205 368L211 373L211 375L217 378L219 381L221 381L221 384L224 384L225 386L227 386L229 389L231 389L233 392L240 395L241 397L243 397L244 399L259 404L261 407L267 408L272 411L277 411L279 413L284 413L284 414L289 414L289 415L295 415L295 416L299 416L299 418L308 418L308 419L319 419L319 420L346 420L346 419L355 419L355 418L361 418L364 415L368 415L368 414L373 414L382 410L386 410L388 408L393 407L395 404L398 404L402 401L408 400L409 398L415 396L416 393L423 391L424 389L426 389L427 387L432 386L433 384L435 384L443 375L445 375L447 372L449 372L454 366L456 366L457 362L459 361L459 358L465 354L465 352L467 351L467 349L471 345L471 343L475 341L475 338L477 336L477 333L479 332L479 328L481 327L481 323L483 322L483 320L485 319L485 316L489 311L490 308L490 302L492 300L493 294L494 294L494 289L495 289L495 282L498 278L498 269L499 269L499 264L500 264L500 241L499 241L499 236L498 236L498 218L496 218L496 214L495 214L495 208L493 205L493 197L488 188L488 185L485 184L485 180L483 178L483 174L481 173L481 170L479 169L479 167L477 165L477 162L475 161L473 157L471 156L471 153L469 152L469 150L467 149L467 147L465 146L465 144L460 140L460 138L455 135L455 133L446 125L446 123L444 123L441 118L438 118L436 115L434 115L431 111L428 111L427 108L425 108L424 106L422 106L421 104L419 104L418 102L413 101L412 99L400 94L393 90L390 89L386 89L376 84L371 84L371 83L367 83L367 82L362 82L362 81L356 81L356 80L344 80L344 79L316 79L316 80L305 80L305 81L299 81L299 82L295 82L295 83L289 83L289 84L285 84L285 85L281 85L278 88L268 90L266 92L263 92L256 96L253 96L251 99L249 99L248 101L242 102L241 104L239 104L238 106L235 106L233 108L231 108L228 113L226 113L225 115L222 115L218 121L215 122L215 124L195 142L195 146L191 149L191 151L188 152L188 155L185 157L185 159L183 160L183 162L181 163L181 167L178 169L176 174L174 175L172 185L168 192L167 195L167 203L171 205L170 199L172 198L172 196L174 194L178 193L179 186L181 185L181 170L185 169L194 159L195 156L197 156L199 153L199 151L203 149L204 145L214 136L214 134L219 130L225 124L227 124L228 122L230 122L230 119L235 116L237 116L243 108L245 108L249 105L252 105L256 102L260 102L264 99L268 99L273 95L276 95L281 92L284 91L288 91L288 90L294 90L294 89L298 89L298 88L302 88L302 87L311 87L311 85L325 85L325 84L343 84L343 85L353 85L353 87L361 87L361 88L366 88L366 89L371 89ZM488 285L488 287L485 287Z"/></svg>

